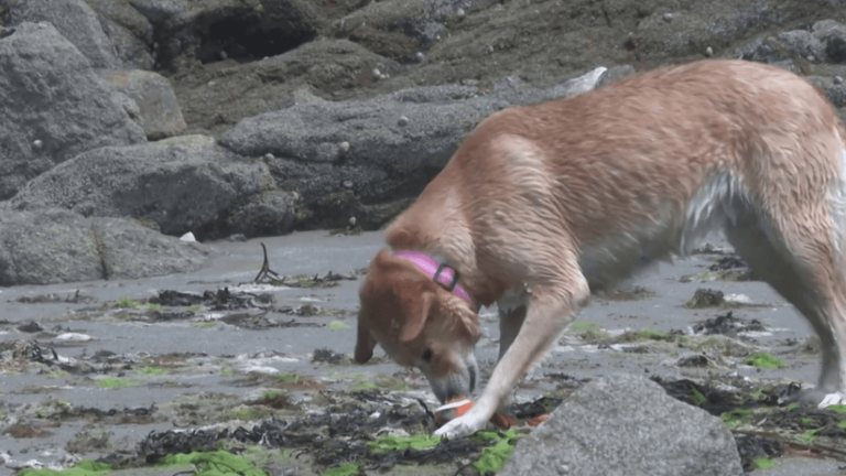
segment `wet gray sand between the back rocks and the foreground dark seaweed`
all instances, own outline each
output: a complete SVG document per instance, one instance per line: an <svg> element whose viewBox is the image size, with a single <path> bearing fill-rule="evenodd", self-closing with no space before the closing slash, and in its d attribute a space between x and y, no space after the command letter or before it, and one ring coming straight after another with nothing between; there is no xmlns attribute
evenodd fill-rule
<svg viewBox="0 0 846 476"><path fill-rule="evenodd" d="M260 242L268 248L273 271L299 275L305 286L252 284L262 262ZM261 399L268 388L280 388L285 379L290 380L282 386L285 399L300 402L294 407L301 411L317 401L317 393L355 389L392 390L435 404L423 378L380 357L380 349L372 364L358 366L349 360L360 275L382 246L380 234L333 237L310 231L213 245L216 257L194 273L0 288L4 351L0 422L7 429L0 434L0 452L7 458L0 474L33 459L45 465L70 462L70 453L89 459L131 455L151 431L246 424L268 413L239 413L253 409L245 402ZM762 282L702 281L716 275L708 267L720 256L699 253L661 264L622 285L621 293L595 296L550 358L527 379L520 400L554 393L566 387L563 380L576 382L616 371L665 379L736 375L773 382L815 381L818 354L803 349L812 332L792 306ZM311 286L314 283L306 279L329 271L359 279L340 280L329 288ZM691 275L698 279L683 278ZM263 307L236 310L148 303L162 290L203 293L224 288L236 294L269 294L272 301L261 298ZM730 309L685 307L702 288L723 291L737 304ZM74 299L76 302L66 302ZM716 347L708 346L708 337L697 340L705 343L701 347L665 345L661 339L614 342L614 336L641 329L692 335L697 323L727 311L744 322L758 320L764 331L730 336L728 345L724 340ZM477 347L482 376L489 375L497 354L496 316L496 309L482 309L484 333ZM335 364L317 363L313 360L317 349L345 357ZM783 359L787 367L760 369L742 364L744 355L758 350ZM691 355L705 355L712 365L679 365ZM274 385L268 383L268 376L275 378ZM215 405L205 408L197 401L214 401ZM295 411L291 408L285 414ZM104 419L91 409L115 414ZM148 414L139 409L148 409ZM218 414L212 415L215 412ZM80 435L102 437L69 444L85 440ZM822 472L818 474L836 468L827 461L799 461ZM782 469L759 472L779 474ZM301 470L307 474L307 469Z"/></svg>

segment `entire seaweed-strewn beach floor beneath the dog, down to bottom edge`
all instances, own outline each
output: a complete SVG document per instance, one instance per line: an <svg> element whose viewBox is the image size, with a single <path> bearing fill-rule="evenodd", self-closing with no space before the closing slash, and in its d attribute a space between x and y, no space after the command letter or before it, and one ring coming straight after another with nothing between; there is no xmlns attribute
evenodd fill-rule
<svg viewBox="0 0 846 476"><path fill-rule="evenodd" d="M438 403L422 375L381 351L366 366L350 357L358 280L381 246L378 234L367 232L219 241L209 267L187 274L0 289L4 467L61 468L84 459L153 468L195 452L193 463L178 467L237 457L226 464L267 474L511 474L501 465L514 445L533 437L541 421L535 431L552 428L550 412L574 405L593 423L577 431L567 416L570 434L605 441L616 455L606 462L621 467L644 453L612 450L637 443L620 428L636 424L642 411L654 418L637 425L658 432L662 415L682 408L722 420L715 429L730 443L720 454L731 458L733 472L742 465L760 474L781 467L836 474L843 464L846 414L783 403L818 368L818 344L796 313L755 281L706 285L766 305L685 306L703 282L676 277L707 271L718 260L712 253L637 280L619 291L625 299L596 298L521 383L510 409L517 426L434 440ZM496 358L496 315L481 313L482 379ZM600 401L596 386L607 387L599 391L606 410L592 410ZM636 388L647 393L637 397ZM600 415L621 426L598 431ZM663 436L655 433L650 451L702 428L679 421L673 416ZM564 446L547 447L564 454ZM511 459L520 464L519 451ZM668 474L687 467L677 458L653 459ZM768 464L777 467L761 469ZM574 459L568 470L584 467Z"/></svg>

